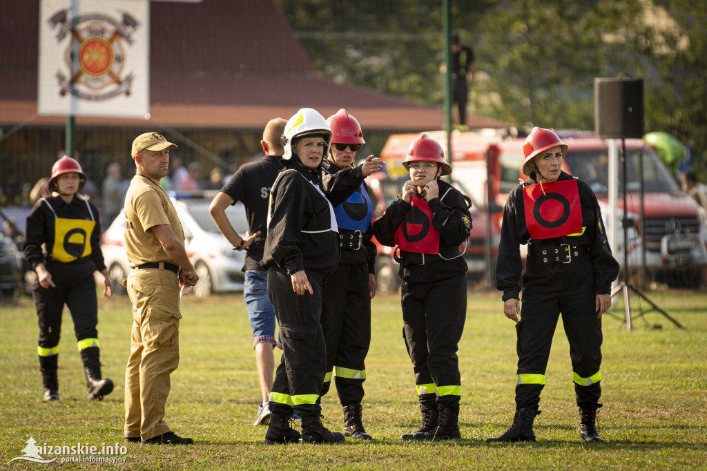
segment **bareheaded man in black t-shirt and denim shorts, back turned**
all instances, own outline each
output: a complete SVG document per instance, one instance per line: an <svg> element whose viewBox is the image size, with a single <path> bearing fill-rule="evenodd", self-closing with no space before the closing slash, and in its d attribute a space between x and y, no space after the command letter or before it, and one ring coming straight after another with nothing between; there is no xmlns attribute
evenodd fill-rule
<svg viewBox="0 0 707 471"><path fill-rule="evenodd" d="M267 272L259 262L263 257L265 236L267 236L270 189L282 168L280 159L284 149L280 144L280 136L285 134L286 123L287 121L282 118L274 118L268 122L260 141L265 153L264 158L239 168L209 207L209 213L214 218L216 226L233 244L233 248L247 250L243 267L245 272L243 298L253 331L253 348L262 393L262 402L258 407L253 425L267 425L270 420L268 400L275 367L273 350L279 346L275 337L275 311L267 293ZM226 208L239 201L245 205L250 228L245 236L235 231L226 216Z"/></svg>

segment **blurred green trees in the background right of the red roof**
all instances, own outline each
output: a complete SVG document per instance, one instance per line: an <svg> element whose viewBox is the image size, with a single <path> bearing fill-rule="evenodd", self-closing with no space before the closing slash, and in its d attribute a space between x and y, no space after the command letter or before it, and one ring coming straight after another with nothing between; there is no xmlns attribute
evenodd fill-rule
<svg viewBox="0 0 707 471"><path fill-rule="evenodd" d="M443 102L439 0L278 0L315 69ZM674 135L707 178L707 1L450 0L474 47L474 114L522 127L594 129L594 79L644 79L645 130Z"/></svg>

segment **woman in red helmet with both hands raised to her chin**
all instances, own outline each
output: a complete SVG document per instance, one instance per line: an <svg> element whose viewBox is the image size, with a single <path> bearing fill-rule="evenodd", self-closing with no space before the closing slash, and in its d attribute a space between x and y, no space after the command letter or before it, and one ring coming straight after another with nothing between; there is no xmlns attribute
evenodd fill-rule
<svg viewBox="0 0 707 471"><path fill-rule="evenodd" d="M461 438L457 344L467 313L467 262L460 245L472 218L464 195L440 180L452 168L435 139L422 134L413 141L403 165L410 180L373 223L380 243L399 247L403 335L422 412L420 429L401 438Z"/></svg>

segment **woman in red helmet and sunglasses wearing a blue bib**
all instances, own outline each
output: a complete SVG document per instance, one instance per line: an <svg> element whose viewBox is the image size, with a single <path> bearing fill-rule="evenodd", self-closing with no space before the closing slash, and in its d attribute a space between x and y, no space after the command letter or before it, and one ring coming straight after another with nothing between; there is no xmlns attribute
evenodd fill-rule
<svg viewBox="0 0 707 471"><path fill-rule="evenodd" d="M336 180L346 169L354 170L356 151L366 144L361 124L343 108L327 119L332 146L322 168ZM382 161L368 156L361 175L377 171ZM370 221L373 206L366 182L346 201L334 207L339 226L339 263L327 277L322 291L322 329L327 342L327 376L322 396L332 376L344 407L344 436L370 440L363 427L361 400L366 380L366 355L370 347L370 300L375 296L375 244Z"/></svg>

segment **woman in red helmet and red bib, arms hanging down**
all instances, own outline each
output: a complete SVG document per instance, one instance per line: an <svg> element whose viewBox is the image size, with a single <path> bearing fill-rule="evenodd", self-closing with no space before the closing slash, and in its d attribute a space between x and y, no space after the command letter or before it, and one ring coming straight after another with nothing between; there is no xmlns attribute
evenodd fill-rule
<svg viewBox="0 0 707 471"><path fill-rule="evenodd" d="M523 146L530 175L508 195L503 210L496 287L503 313L516 322L518 371L513 425L496 441L535 441L532 424L559 315L570 344L580 436L599 442L595 418L601 396L602 314L611 306L619 274L589 185L561 170L567 146L549 129L534 127ZM528 245L522 275L520 245ZM520 313L520 320L518 320Z"/></svg>

